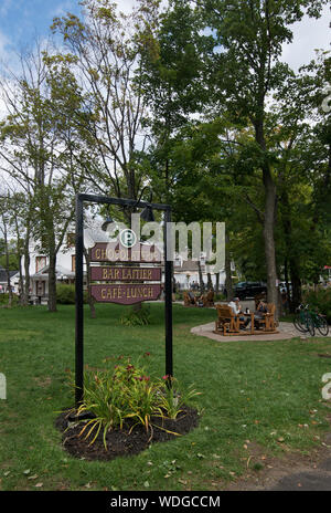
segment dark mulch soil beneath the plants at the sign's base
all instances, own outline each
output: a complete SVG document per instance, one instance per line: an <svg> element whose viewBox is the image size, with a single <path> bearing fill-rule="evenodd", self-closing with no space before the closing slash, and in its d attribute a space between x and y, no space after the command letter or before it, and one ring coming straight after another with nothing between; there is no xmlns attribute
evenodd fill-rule
<svg viewBox="0 0 331 513"><path fill-rule="evenodd" d="M84 439L85 435L78 436L84 423L70 422L70 409L63 411L56 418L55 426L63 433L62 443L64 449L73 457L84 458L86 460L105 461L113 460L120 456L137 454L147 449L151 443L166 442L178 438L177 435L169 433L164 431L164 429L182 436L194 429L199 421L197 411L190 407L185 407L175 420L160 419L157 417L152 418L152 432L147 432L142 426L138 425L129 433L132 423L127 422L121 430L115 429L107 433L106 450L102 432L93 444L89 444L92 439ZM162 429L159 429L157 426L160 426Z"/></svg>

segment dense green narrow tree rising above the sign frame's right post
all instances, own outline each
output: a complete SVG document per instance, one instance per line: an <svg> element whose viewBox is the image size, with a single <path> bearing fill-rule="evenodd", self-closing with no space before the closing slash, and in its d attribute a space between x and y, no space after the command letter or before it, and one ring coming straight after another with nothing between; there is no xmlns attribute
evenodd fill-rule
<svg viewBox="0 0 331 513"><path fill-rule="evenodd" d="M205 75L214 42L202 32L199 12L184 0L170 0L157 22L143 29L138 80L149 107L150 176L160 199L169 202L178 175L172 148L191 116L201 113L206 103Z"/></svg>

